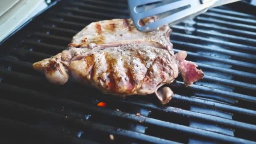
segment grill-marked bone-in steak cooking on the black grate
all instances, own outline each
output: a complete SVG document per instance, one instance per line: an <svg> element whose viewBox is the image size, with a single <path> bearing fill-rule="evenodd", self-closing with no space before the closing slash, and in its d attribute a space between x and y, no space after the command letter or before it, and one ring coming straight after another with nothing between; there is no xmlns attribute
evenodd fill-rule
<svg viewBox="0 0 256 144"><path fill-rule="evenodd" d="M155 21L149 17L145 24ZM186 86L203 78L187 53L173 52L168 25L139 32L131 19L112 19L89 24L78 32L67 50L33 64L49 82L64 85L69 75L103 93L120 96L155 93L163 103L173 96L169 87L179 72Z"/></svg>

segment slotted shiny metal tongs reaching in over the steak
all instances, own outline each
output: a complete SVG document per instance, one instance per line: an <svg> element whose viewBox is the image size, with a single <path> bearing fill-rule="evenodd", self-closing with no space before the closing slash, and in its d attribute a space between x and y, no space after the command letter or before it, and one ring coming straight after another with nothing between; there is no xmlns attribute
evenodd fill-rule
<svg viewBox="0 0 256 144"><path fill-rule="evenodd" d="M135 27L142 32L152 31L164 24L170 26L193 18L213 8L240 0L128 0ZM157 20L140 25L140 20L156 16Z"/></svg>

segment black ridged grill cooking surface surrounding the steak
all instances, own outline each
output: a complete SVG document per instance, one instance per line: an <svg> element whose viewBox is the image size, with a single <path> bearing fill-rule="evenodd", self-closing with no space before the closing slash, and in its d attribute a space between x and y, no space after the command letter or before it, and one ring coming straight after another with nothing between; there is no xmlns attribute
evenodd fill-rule
<svg viewBox="0 0 256 144"><path fill-rule="evenodd" d="M0 143L255 143L256 17L229 7L172 27L175 52L205 77L187 88L179 77L165 106L153 95L52 85L33 70L92 21L114 18L129 18L126 0L56 1L0 45Z"/></svg>

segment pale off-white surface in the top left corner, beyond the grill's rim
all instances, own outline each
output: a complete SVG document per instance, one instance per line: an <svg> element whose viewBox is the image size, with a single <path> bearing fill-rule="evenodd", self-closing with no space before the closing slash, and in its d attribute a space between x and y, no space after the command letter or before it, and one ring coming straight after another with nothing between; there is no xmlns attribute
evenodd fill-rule
<svg viewBox="0 0 256 144"><path fill-rule="evenodd" d="M0 1L0 41L47 7L45 0L8 0L10 3Z"/></svg>

